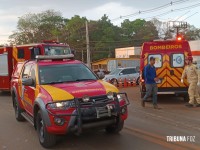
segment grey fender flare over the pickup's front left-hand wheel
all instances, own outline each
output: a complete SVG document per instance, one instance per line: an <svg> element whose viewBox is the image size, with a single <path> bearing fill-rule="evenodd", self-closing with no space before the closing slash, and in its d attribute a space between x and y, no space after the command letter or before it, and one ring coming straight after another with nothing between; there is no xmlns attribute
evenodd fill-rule
<svg viewBox="0 0 200 150"><path fill-rule="evenodd" d="M51 126L51 121L49 118L49 113L46 110L45 103L42 98L36 98L34 102L34 107L33 107L33 114L34 114L34 126L36 127L36 115L38 109L41 111L42 118L44 119L44 122L47 126Z"/></svg>

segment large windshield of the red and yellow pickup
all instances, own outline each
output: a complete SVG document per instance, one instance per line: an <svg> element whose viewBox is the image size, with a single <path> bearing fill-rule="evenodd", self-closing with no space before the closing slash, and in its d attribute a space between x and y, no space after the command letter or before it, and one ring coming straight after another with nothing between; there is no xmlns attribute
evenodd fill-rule
<svg viewBox="0 0 200 150"><path fill-rule="evenodd" d="M83 64L47 65L39 67L40 84L97 80Z"/></svg>

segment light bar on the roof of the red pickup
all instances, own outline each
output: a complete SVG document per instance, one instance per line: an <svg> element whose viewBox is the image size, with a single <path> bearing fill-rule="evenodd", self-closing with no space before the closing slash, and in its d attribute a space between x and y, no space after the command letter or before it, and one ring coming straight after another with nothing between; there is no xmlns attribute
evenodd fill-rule
<svg viewBox="0 0 200 150"><path fill-rule="evenodd" d="M36 60L59 60L59 59L74 59L74 55L68 54L68 55L54 55L54 56L47 56L47 55L36 56Z"/></svg>

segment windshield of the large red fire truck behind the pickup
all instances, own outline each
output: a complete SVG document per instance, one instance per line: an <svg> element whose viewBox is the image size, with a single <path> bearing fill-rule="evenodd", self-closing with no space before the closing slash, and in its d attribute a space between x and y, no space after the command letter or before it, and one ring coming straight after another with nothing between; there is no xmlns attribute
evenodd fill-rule
<svg viewBox="0 0 200 150"><path fill-rule="evenodd" d="M71 49L69 47L61 46L46 46L45 55L67 55L71 54Z"/></svg>

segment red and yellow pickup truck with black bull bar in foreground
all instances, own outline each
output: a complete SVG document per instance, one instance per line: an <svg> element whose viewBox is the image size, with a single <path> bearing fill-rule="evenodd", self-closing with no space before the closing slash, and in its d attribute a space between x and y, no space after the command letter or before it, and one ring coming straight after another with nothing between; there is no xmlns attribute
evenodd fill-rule
<svg viewBox="0 0 200 150"><path fill-rule="evenodd" d="M18 63L11 93L16 119L29 121L46 148L56 144L56 135L68 132L120 132L128 117L126 93L99 80L72 55L37 56Z"/></svg>

